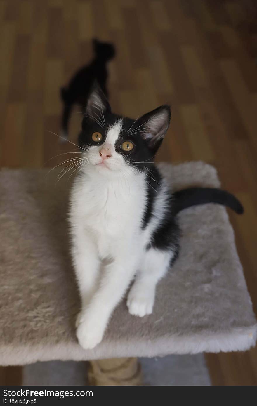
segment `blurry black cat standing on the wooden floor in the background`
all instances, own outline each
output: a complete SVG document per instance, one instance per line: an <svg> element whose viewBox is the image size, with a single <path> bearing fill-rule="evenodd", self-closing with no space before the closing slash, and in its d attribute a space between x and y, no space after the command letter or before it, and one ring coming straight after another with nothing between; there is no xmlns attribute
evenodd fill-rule
<svg viewBox="0 0 257 406"><path fill-rule="evenodd" d="M98 82L104 94L108 97L106 81L108 77L107 62L114 58L114 45L108 42L101 42L93 39L95 57L86 66L83 66L69 81L66 87L60 89L60 96L63 100L62 114L62 137L68 138L69 119L74 105L79 105L82 112L87 104L87 99L93 82Z"/></svg>

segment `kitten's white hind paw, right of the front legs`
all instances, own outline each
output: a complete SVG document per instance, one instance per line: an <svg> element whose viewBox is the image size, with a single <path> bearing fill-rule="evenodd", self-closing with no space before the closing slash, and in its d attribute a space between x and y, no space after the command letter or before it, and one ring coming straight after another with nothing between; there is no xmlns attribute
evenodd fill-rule
<svg viewBox="0 0 257 406"><path fill-rule="evenodd" d="M127 307L130 314L144 317L153 312L154 295L142 293L134 294L130 292L127 297Z"/></svg>

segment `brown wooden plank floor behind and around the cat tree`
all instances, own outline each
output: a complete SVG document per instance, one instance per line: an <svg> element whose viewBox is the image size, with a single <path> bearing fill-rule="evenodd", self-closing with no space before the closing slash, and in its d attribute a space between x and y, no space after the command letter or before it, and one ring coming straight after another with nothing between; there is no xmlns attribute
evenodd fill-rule
<svg viewBox="0 0 257 406"><path fill-rule="evenodd" d="M60 133L59 88L91 57L92 37L113 41L115 112L137 117L170 103L159 160L214 164L244 204L244 216L230 218L255 313L256 10L255 0L0 0L0 165L54 166L73 150L50 133ZM74 114L75 143L78 129ZM206 360L214 385L257 384L256 348ZM20 381L17 368L0 376Z"/></svg>

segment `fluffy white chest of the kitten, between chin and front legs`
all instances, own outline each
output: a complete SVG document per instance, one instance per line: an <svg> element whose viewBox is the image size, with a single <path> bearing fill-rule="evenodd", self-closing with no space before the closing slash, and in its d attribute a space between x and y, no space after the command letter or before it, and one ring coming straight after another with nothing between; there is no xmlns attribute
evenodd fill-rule
<svg viewBox="0 0 257 406"><path fill-rule="evenodd" d="M102 257L138 235L144 190L124 183L90 183L79 179L71 194L71 222L82 222Z"/></svg>

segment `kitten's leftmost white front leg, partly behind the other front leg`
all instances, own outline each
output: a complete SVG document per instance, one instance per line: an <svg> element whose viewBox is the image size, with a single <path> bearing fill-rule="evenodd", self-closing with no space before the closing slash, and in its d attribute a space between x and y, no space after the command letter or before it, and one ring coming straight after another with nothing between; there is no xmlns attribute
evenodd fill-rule
<svg viewBox="0 0 257 406"><path fill-rule="evenodd" d="M81 298L81 311L76 321L78 326L80 317L95 291L100 266L96 244L82 225L76 227L76 231L73 232L71 252Z"/></svg>

